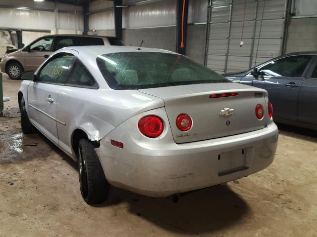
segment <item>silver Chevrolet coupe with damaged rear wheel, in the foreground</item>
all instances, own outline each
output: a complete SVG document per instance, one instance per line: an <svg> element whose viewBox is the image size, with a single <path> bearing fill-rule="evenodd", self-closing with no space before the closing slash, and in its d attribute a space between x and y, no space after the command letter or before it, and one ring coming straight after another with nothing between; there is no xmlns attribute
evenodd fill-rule
<svg viewBox="0 0 317 237"><path fill-rule="evenodd" d="M173 52L125 46L56 51L18 92L24 133L79 163L84 200L109 185L167 197L267 167L278 130L264 89Z"/></svg>

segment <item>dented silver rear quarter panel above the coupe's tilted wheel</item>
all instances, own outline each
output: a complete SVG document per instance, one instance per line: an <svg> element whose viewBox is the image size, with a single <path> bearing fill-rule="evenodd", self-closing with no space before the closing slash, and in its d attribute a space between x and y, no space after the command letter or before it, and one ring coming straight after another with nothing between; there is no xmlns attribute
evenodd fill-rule
<svg viewBox="0 0 317 237"><path fill-rule="evenodd" d="M59 145L69 154L76 129L86 132L89 139L99 141L113 128L132 116L163 107L163 100L137 90L106 90L63 86L57 98Z"/></svg>

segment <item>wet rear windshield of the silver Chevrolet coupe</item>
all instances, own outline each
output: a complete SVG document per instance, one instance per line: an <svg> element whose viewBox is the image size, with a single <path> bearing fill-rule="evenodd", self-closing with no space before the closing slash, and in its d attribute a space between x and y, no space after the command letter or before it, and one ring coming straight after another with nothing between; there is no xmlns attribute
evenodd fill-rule
<svg viewBox="0 0 317 237"><path fill-rule="evenodd" d="M97 64L112 89L230 82L185 56L171 53L110 53L99 55Z"/></svg>

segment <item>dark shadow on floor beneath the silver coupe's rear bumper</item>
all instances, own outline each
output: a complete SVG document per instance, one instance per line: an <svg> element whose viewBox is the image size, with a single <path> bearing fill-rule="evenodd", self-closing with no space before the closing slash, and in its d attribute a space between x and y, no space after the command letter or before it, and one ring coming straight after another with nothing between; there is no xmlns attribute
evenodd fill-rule
<svg viewBox="0 0 317 237"><path fill-rule="evenodd" d="M131 214L175 233L198 235L228 228L250 212L248 203L227 184L182 194L178 202L167 197L145 197L111 187L100 206L127 202Z"/></svg>

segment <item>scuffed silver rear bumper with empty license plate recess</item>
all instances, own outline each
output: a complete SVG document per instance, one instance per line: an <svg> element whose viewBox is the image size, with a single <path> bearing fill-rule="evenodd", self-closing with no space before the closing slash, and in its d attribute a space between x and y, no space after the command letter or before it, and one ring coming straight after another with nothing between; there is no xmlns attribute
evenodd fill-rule
<svg viewBox="0 0 317 237"><path fill-rule="evenodd" d="M109 133L96 149L108 182L141 195L167 197L266 168L274 159L278 129L271 122L253 132L185 144L161 144L160 149L142 139L128 140L120 149L110 145L114 138L115 134Z"/></svg>

